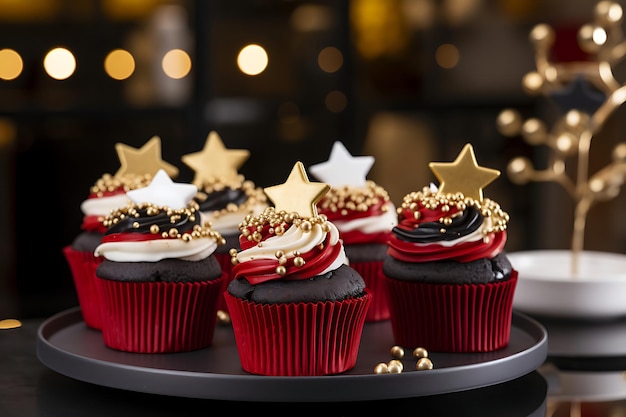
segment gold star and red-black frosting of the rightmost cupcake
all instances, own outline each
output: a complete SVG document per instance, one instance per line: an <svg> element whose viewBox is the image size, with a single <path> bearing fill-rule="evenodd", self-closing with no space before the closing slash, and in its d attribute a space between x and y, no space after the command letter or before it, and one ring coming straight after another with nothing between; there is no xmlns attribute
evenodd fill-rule
<svg viewBox="0 0 626 417"><path fill-rule="evenodd" d="M506 243L509 215L482 188L500 172L478 165L466 144L451 163L430 163L440 181L404 196L388 254L403 262L492 259Z"/></svg>

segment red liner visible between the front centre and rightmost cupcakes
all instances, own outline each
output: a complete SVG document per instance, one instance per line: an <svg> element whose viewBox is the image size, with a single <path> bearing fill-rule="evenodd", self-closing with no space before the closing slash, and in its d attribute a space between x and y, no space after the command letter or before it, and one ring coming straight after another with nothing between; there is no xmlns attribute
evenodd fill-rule
<svg viewBox="0 0 626 417"><path fill-rule="evenodd" d="M350 262L350 266L363 277L365 287L372 294L372 303L367 310L365 322L388 320L390 316L389 297L387 296L387 285L383 274L383 261Z"/></svg>

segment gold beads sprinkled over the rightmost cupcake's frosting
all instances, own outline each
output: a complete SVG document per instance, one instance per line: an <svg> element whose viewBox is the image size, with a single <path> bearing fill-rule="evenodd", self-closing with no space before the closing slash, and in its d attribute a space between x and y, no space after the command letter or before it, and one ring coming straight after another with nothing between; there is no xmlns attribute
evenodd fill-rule
<svg viewBox="0 0 626 417"><path fill-rule="evenodd" d="M509 222L509 214L502 210L500 205L489 198L483 198L482 201L475 200L471 197L465 197L463 193L439 193L434 192L428 187L424 187L421 191L408 193L402 199L402 204L397 208L400 220L405 217L405 211L413 212L414 220L420 219L420 209L427 210L440 209L443 213L452 212L449 216L442 216L439 222L444 226L452 224L452 218L456 213L466 210L468 207L476 208L481 215L489 221L483 222L483 234L497 233L506 230ZM453 210L456 208L456 210Z"/></svg>

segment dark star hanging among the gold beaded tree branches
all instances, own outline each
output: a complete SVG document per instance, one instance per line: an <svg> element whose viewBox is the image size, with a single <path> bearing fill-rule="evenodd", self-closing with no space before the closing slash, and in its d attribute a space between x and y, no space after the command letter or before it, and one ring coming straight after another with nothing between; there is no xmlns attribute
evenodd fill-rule
<svg viewBox="0 0 626 417"><path fill-rule="evenodd" d="M562 114L576 109L592 115L606 100L606 94L595 89L582 75L577 76L564 89L551 93L549 97L559 106Z"/></svg>

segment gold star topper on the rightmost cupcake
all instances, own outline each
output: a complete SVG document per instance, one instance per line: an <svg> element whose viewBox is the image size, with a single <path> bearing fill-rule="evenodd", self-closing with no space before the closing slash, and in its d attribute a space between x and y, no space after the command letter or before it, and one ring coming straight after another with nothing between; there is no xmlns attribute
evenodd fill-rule
<svg viewBox="0 0 626 417"><path fill-rule="evenodd" d="M483 188L500 176L500 171L478 165L469 143L454 162L431 162L428 166L439 180L440 194L463 193L476 201L483 200Z"/></svg>

